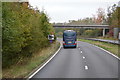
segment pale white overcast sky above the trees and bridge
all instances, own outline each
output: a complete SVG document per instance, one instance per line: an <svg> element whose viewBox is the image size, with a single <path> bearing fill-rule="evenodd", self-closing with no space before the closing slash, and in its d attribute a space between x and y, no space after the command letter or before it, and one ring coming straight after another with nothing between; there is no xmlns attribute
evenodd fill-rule
<svg viewBox="0 0 120 80"><path fill-rule="evenodd" d="M33 7L38 7L47 13L50 22L68 22L92 17L98 8L104 8L117 4L119 0L29 0Z"/></svg>

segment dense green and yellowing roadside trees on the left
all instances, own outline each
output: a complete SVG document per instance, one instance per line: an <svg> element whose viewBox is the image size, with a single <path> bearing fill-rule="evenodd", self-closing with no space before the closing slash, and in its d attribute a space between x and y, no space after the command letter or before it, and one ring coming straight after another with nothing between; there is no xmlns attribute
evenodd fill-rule
<svg viewBox="0 0 120 80"><path fill-rule="evenodd" d="M27 2L2 3L2 67L17 64L47 47L48 34L54 33L44 11Z"/></svg>

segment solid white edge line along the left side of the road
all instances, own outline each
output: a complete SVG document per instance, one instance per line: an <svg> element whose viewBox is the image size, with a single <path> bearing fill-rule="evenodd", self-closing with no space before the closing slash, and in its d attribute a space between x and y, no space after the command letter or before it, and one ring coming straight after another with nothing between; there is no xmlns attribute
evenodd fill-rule
<svg viewBox="0 0 120 80"><path fill-rule="evenodd" d="M60 44L59 49L56 51L56 53L45 64L43 64L38 70L36 70L31 76L29 76L28 80L32 78L36 73L38 73L42 68L44 68L57 55L60 49L61 49L61 44Z"/></svg>

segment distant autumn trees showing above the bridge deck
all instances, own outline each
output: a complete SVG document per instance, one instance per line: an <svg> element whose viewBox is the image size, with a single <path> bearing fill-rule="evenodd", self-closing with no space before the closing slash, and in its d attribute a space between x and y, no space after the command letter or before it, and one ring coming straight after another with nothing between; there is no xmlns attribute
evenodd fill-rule
<svg viewBox="0 0 120 80"><path fill-rule="evenodd" d="M103 8L98 8L96 14L92 17L86 17L78 20L69 20L67 23L53 23L57 25L65 24L65 25L104 25L108 24L107 16Z"/></svg>

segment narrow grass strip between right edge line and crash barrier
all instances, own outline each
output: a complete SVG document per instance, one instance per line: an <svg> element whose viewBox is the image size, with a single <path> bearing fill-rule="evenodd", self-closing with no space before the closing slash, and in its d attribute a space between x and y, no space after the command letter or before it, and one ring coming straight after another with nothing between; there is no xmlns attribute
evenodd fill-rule
<svg viewBox="0 0 120 80"><path fill-rule="evenodd" d="M88 42L90 44L94 44L96 46L99 46L105 50L108 50L109 52L117 55L118 57L120 57L120 53L119 53L119 46L116 44L110 44L110 43L105 43L105 42L100 42L100 41L92 41L92 40L85 40L85 39L79 39L79 41L83 41L83 42ZM118 54L119 53L119 54Z"/></svg>

